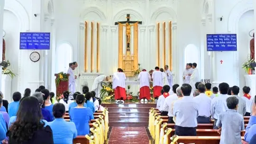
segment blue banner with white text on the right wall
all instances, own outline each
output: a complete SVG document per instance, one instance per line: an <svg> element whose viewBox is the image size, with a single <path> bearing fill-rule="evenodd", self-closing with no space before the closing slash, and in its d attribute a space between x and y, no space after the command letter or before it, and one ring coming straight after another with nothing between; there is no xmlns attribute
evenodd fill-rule
<svg viewBox="0 0 256 144"><path fill-rule="evenodd" d="M237 34L208 34L207 51L237 51Z"/></svg>

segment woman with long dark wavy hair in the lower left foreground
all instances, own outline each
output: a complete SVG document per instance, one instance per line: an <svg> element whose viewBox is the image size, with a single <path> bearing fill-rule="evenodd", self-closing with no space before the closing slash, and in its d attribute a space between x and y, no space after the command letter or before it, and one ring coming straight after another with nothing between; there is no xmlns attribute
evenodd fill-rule
<svg viewBox="0 0 256 144"><path fill-rule="evenodd" d="M42 120L36 97L25 98L19 105L17 116L11 117L10 122L9 144L54 144L52 129L46 120Z"/></svg>

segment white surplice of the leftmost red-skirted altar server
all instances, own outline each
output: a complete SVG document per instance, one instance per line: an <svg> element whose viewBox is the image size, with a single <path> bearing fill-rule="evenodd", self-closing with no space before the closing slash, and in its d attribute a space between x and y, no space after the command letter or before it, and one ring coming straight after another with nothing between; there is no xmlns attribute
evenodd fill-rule
<svg viewBox="0 0 256 144"><path fill-rule="evenodd" d="M116 89L117 87L125 88L126 76L124 72L115 72L113 75L113 85L112 88Z"/></svg>

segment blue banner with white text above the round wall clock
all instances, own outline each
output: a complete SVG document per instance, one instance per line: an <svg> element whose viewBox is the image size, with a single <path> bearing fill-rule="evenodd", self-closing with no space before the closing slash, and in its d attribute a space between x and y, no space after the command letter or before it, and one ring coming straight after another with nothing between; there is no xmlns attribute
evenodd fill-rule
<svg viewBox="0 0 256 144"><path fill-rule="evenodd" d="M24 50L49 50L50 33L20 33L19 49Z"/></svg>

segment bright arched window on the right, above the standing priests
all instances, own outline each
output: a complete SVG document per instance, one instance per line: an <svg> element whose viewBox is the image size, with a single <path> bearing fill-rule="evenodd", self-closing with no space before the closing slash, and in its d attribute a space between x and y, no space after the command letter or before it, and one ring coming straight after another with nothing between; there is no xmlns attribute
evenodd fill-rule
<svg viewBox="0 0 256 144"><path fill-rule="evenodd" d="M185 48L185 64L186 63L199 63L198 49L195 45L187 45Z"/></svg>

